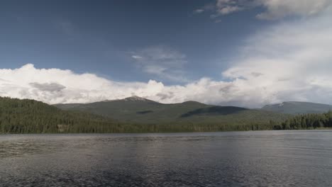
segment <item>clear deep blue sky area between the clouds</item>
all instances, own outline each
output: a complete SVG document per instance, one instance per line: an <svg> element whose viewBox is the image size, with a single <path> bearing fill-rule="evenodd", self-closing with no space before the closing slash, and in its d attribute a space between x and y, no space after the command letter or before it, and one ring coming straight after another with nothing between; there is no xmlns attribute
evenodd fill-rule
<svg viewBox="0 0 332 187"><path fill-rule="evenodd" d="M218 18L194 10L213 1L2 1L1 67L93 72L121 81L184 84L138 66L131 53L162 47L185 55L187 81L211 77L265 25L256 10Z"/></svg>

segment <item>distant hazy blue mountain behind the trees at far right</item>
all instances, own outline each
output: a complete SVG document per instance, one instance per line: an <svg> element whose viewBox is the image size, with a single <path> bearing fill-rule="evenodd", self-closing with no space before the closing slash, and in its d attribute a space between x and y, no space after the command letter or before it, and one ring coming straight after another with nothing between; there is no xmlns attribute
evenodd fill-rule
<svg viewBox="0 0 332 187"><path fill-rule="evenodd" d="M290 101L267 105L262 107L262 110L287 114L326 113L332 110L332 106L319 103Z"/></svg>

